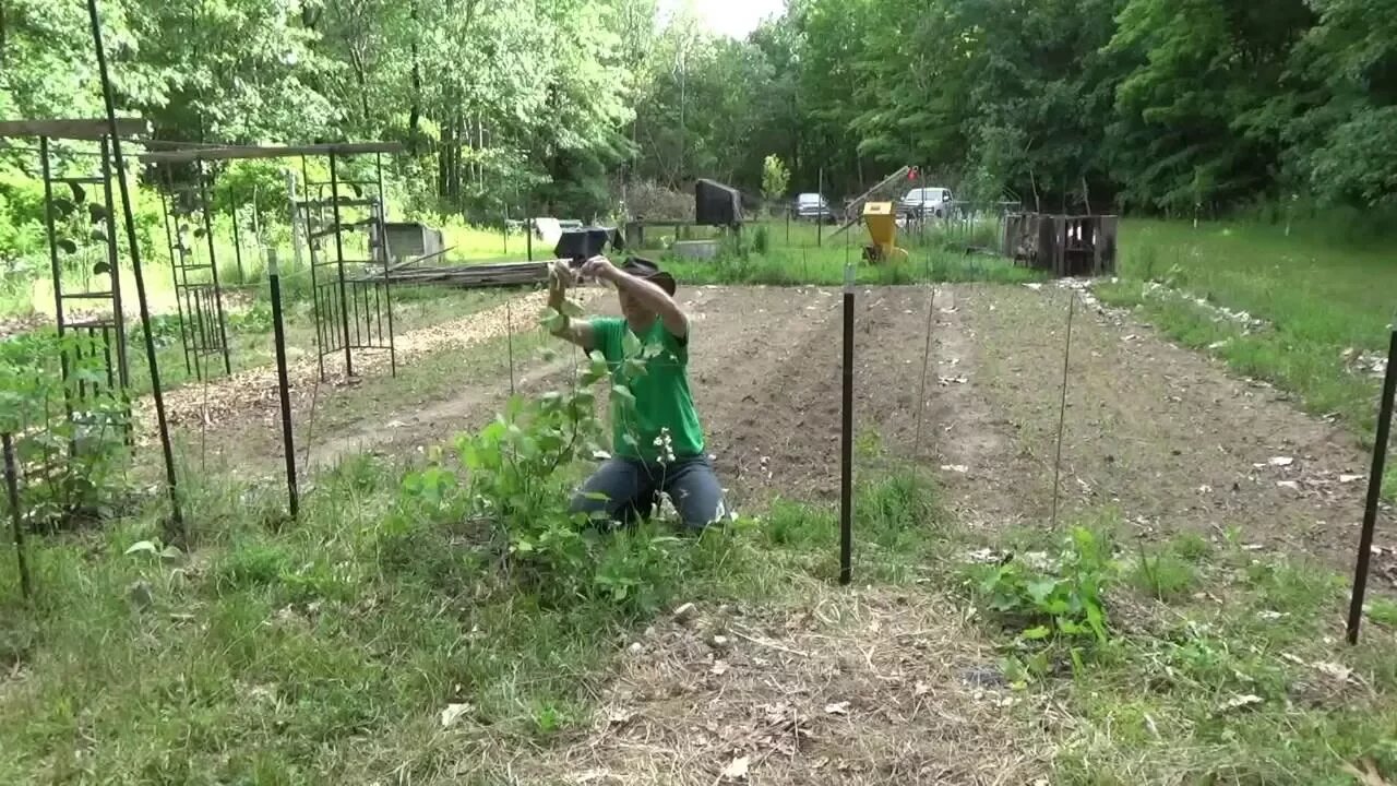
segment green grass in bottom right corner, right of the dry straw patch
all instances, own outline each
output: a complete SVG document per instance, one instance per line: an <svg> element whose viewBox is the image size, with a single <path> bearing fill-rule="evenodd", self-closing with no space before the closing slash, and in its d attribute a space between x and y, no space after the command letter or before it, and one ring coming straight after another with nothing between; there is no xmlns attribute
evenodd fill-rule
<svg viewBox="0 0 1397 786"><path fill-rule="evenodd" d="M1120 531L1091 526L1108 533L1098 543ZM1081 561L1071 548L1042 548L1044 533L996 540L1016 557L1044 550L1060 565ZM1046 576L1041 586L1077 580L1066 568ZM1092 580L1106 604L1105 642L1020 641L989 599L967 593L1003 645L1023 733L1048 730L1053 783L1338 786L1352 783L1343 766L1365 757L1389 779L1397 773L1390 600L1375 599L1359 646L1348 648L1344 576L1197 536L1161 548L1118 541L1115 566Z"/></svg>

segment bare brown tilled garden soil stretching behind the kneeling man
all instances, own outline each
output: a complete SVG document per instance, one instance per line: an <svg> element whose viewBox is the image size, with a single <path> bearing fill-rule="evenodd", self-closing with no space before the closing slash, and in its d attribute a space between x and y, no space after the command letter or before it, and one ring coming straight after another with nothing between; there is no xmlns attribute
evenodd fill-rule
<svg viewBox="0 0 1397 786"><path fill-rule="evenodd" d="M929 287L855 292L856 469L880 471L863 445L882 445L937 470L946 503L963 523L1045 529L1053 509L1070 294L1055 287L937 287L935 305L930 294ZM513 305L515 333L532 330L539 296ZM597 291L587 296L592 308L615 310L610 298ZM777 495L835 499L842 294L696 287L680 298L693 319L690 376L708 450L735 502L760 508ZM496 308L404 337L400 361L432 366L441 365L443 352L481 351L504 336L503 316ZM525 392L562 383L580 357L564 351L542 362L520 355L515 383ZM307 420L314 392L305 379L314 369L302 365L298 424ZM461 366L471 369L462 379L404 396L394 394L394 380L377 379L387 376L383 365L366 364L372 385L344 393L367 399L358 403L356 420L331 420L310 434L314 463L363 449L394 453L448 442L483 424L509 394L503 358L488 368ZM274 459L279 446L270 375L251 371L211 393L176 392L172 410L197 420L207 396L218 417L205 439L253 446L254 459ZM1340 569L1351 562L1368 457L1343 428L1306 415L1264 383L1229 376L1127 315L1088 305L1076 312L1067 378L1060 522L1113 510L1147 540L1196 531L1316 557ZM320 396L341 385L323 385ZM1391 512L1384 513L1391 524ZM1386 550L1379 569L1397 575L1397 559Z"/></svg>

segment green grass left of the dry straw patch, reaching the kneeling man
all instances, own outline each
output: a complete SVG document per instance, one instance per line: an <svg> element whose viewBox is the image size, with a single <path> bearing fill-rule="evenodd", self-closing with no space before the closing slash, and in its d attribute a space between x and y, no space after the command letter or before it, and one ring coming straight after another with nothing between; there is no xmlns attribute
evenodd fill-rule
<svg viewBox="0 0 1397 786"><path fill-rule="evenodd" d="M103 531L38 541L35 607L0 586L0 673L22 674L0 684L0 780L427 780L481 755L474 733L441 731L448 703L469 703L462 724L500 743L588 722L592 676L652 613L599 597L545 604L468 527L383 526L398 474L346 460L291 524L274 485L196 480L198 548L184 559L123 554L159 533L158 498ZM926 552L907 548L928 543L914 531L936 531L925 483L895 476L861 499L879 562ZM650 596L657 610L770 600L792 572L833 578L830 516L782 503L771 529L680 544L645 576ZM617 536L609 551L640 541ZM133 604L145 589L151 604Z"/></svg>

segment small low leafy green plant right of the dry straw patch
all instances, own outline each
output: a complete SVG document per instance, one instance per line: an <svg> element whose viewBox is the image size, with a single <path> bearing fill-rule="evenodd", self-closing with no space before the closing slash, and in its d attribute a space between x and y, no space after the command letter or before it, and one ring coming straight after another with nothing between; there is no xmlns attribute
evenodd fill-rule
<svg viewBox="0 0 1397 786"><path fill-rule="evenodd" d="M1105 593L1119 568L1102 536L1074 527L1056 559L1030 565L1010 558L972 573L978 604L1021 643L1063 642L1077 657L1083 646L1108 641Z"/></svg>

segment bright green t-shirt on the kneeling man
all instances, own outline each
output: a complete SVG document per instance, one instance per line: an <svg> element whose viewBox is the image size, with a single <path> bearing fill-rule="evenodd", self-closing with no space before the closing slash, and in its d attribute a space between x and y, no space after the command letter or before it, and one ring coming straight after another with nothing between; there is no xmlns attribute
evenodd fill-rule
<svg viewBox="0 0 1397 786"><path fill-rule="evenodd" d="M657 319L637 338L644 347L658 347L658 354L645 361L645 373L631 375L624 368L624 340L630 333L626 320L602 317L591 324L597 350L610 366L612 382L624 385L636 396L634 407L612 396L612 452L622 459L655 462L662 450L655 439L668 428L676 459L701 456L703 425L689 393L689 340L676 338Z"/></svg>

